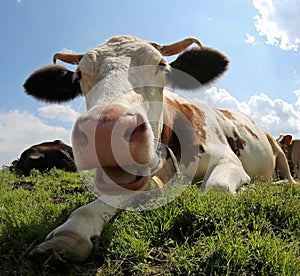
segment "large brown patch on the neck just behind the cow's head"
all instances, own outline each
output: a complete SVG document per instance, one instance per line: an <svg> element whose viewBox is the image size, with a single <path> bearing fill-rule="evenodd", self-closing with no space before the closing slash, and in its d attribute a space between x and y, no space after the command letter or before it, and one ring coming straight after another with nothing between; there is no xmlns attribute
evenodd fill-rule
<svg viewBox="0 0 300 276"><path fill-rule="evenodd" d="M168 98L165 99L165 103L161 142L172 149L178 161L188 166L195 161L196 156L205 152L206 121L204 113L192 104L181 104ZM182 158L181 148L185 151L185 160L180 160Z"/></svg>

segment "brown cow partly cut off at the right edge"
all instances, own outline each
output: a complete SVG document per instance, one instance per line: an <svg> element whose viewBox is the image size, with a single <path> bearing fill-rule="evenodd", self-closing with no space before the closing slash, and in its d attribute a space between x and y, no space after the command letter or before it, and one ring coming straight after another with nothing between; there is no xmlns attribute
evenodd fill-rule
<svg viewBox="0 0 300 276"><path fill-rule="evenodd" d="M276 141L286 155L292 176L300 179L300 140L293 140L292 135L279 135Z"/></svg>

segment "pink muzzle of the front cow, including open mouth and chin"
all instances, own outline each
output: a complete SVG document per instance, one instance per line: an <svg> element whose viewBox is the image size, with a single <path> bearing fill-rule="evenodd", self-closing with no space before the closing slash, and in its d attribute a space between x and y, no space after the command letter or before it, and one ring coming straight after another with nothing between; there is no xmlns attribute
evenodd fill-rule
<svg viewBox="0 0 300 276"><path fill-rule="evenodd" d="M151 125L138 112L114 108L83 115L72 140L78 169L96 168L98 186L139 190L159 163Z"/></svg>

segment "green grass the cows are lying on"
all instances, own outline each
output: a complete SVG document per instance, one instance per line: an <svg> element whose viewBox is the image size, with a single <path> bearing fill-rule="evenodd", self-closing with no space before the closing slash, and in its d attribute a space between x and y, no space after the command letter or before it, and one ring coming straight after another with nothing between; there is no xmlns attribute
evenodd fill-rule
<svg viewBox="0 0 300 276"><path fill-rule="evenodd" d="M30 260L93 199L76 173L0 172L0 275L300 275L300 186L262 181L238 196L193 185L159 209L123 211L84 264Z"/></svg>

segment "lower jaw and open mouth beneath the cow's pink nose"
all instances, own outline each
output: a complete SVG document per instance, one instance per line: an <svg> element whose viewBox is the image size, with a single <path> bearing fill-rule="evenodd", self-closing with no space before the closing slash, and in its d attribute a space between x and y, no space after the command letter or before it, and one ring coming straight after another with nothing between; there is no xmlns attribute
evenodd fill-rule
<svg viewBox="0 0 300 276"><path fill-rule="evenodd" d="M133 173L135 171L135 173ZM94 182L97 190L104 194L119 195L143 190L149 176L145 169L104 167L97 168Z"/></svg>

